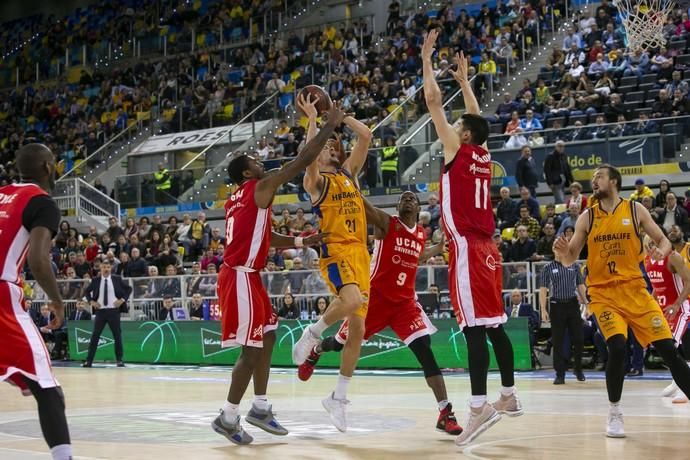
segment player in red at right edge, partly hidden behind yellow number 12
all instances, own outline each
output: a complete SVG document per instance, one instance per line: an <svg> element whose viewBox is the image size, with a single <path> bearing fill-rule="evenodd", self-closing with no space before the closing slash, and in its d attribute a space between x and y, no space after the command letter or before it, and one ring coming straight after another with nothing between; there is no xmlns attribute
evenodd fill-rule
<svg viewBox="0 0 690 460"><path fill-rule="evenodd" d="M683 344L683 336L688 330L688 319L690 319L690 302L688 301L688 296L690 295L690 268L687 267L683 257L676 251L671 251L665 259L653 259L651 255L654 253L654 249L656 249L656 244L647 235L644 237L644 247L647 250L644 266L649 282L654 290L654 298L659 302L659 306L664 311L668 325L673 333L673 339L676 341L681 355L684 355L683 357L687 361L688 356L685 356L684 349L680 348L680 345ZM675 382L671 382L662 394L664 396L671 396L672 402L675 404L688 402L688 397L678 388Z"/></svg>

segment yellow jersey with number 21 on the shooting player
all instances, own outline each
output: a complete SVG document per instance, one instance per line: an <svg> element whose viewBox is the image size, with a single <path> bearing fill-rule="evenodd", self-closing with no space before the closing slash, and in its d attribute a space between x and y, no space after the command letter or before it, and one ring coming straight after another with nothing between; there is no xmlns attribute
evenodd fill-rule
<svg viewBox="0 0 690 460"><path fill-rule="evenodd" d="M355 180L345 170L321 172L324 179L321 196L312 203L319 229L328 234L322 245L323 257L330 257L344 245L367 245L367 219L362 194Z"/></svg>

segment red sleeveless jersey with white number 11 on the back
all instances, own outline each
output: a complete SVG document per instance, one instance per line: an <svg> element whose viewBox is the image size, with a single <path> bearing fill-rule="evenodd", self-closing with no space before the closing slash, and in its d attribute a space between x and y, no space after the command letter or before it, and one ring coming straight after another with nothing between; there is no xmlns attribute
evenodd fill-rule
<svg viewBox="0 0 690 460"><path fill-rule="evenodd" d="M441 214L450 239L491 238L491 154L479 145L460 144L441 174Z"/></svg>

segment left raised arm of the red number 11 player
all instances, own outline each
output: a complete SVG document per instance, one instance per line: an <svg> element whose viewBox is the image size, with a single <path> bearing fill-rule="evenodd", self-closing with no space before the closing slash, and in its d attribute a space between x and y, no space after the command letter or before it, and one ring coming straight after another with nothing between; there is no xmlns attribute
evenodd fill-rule
<svg viewBox="0 0 690 460"><path fill-rule="evenodd" d="M460 138L453 126L448 123L446 114L443 111L443 95L441 88L436 83L434 67L431 64L431 56L434 54L434 46L438 38L438 30L431 30L422 45L422 70L424 75L424 99L426 106L434 122L434 127L438 137L443 143L443 158L445 163L450 163L460 148Z"/></svg>

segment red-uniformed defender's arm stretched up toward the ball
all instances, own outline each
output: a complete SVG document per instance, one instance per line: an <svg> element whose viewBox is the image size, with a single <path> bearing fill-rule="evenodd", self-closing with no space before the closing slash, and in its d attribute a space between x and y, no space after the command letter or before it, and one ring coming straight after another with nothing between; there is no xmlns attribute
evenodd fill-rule
<svg viewBox="0 0 690 460"><path fill-rule="evenodd" d="M344 117L345 113L339 107L335 104L331 105L328 111L328 122L316 137L307 142L307 145L304 146L294 160L284 164L278 171L267 174L256 185L254 199L257 206L267 208L273 200L278 187L295 177L316 160L316 157L319 156L324 145L326 145L326 141L333 134L333 130L340 126Z"/></svg>

